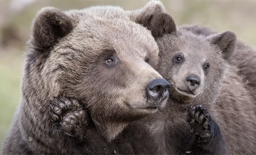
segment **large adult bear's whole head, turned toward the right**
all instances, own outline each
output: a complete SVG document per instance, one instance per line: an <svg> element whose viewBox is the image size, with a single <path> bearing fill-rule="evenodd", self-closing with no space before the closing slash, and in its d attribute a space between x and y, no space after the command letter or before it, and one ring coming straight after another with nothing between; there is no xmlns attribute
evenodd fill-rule
<svg viewBox="0 0 256 155"><path fill-rule="evenodd" d="M112 140L129 122L165 106L170 84L153 68L157 44L128 14L111 6L38 12L22 83L25 104L43 115L35 120L47 120L54 96L74 97Z"/></svg>

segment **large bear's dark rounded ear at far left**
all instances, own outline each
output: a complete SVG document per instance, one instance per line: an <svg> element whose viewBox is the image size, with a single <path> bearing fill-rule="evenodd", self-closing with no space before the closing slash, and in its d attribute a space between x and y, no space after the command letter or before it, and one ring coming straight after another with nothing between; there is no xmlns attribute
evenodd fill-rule
<svg viewBox="0 0 256 155"><path fill-rule="evenodd" d="M72 29L72 21L64 12L54 7L45 7L37 13L32 24L33 45L48 50Z"/></svg>

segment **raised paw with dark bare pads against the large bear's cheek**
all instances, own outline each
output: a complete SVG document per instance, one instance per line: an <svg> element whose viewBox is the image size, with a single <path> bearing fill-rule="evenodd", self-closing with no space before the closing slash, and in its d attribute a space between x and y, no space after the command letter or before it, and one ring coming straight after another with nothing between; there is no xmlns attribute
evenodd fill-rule
<svg viewBox="0 0 256 155"><path fill-rule="evenodd" d="M57 97L50 101L49 119L57 128L69 133L87 113L74 98Z"/></svg>

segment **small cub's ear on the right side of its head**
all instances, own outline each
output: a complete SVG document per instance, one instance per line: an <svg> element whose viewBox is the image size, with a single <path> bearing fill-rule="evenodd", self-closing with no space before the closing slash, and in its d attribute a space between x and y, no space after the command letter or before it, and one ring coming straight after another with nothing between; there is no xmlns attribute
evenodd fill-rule
<svg viewBox="0 0 256 155"><path fill-rule="evenodd" d="M211 44L220 48L224 59L228 59L235 50L237 36L232 31L225 31L209 38Z"/></svg>

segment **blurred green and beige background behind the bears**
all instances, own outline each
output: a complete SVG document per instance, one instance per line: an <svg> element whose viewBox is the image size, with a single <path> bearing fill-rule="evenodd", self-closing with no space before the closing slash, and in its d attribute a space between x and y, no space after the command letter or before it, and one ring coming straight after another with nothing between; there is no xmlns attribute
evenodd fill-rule
<svg viewBox="0 0 256 155"><path fill-rule="evenodd" d="M118 5L139 9L149 0L0 0L0 148L19 103L24 47L36 12L45 6L61 10L91 5ZM23 5L30 2L27 5ZM162 0L177 25L201 24L216 31L231 30L256 46L256 1Z"/></svg>

